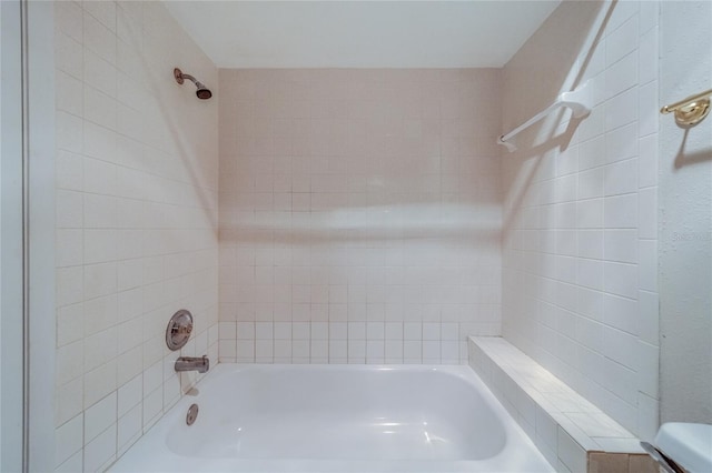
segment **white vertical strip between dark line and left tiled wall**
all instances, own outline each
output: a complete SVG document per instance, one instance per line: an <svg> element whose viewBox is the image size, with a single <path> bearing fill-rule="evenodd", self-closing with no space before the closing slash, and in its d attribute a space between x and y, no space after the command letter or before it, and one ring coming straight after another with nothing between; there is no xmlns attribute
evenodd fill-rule
<svg viewBox="0 0 712 473"><path fill-rule="evenodd" d="M55 233L55 9L52 2L27 2L28 18L27 68L30 71L23 87L28 91L27 115L28 149L26 157L27 220L24 231L28 246L27 301L29 310L29 422L28 469L51 471L53 459L47 452L55 450L55 341L56 341L56 233ZM27 402L27 401L26 401Z"/></svg>

